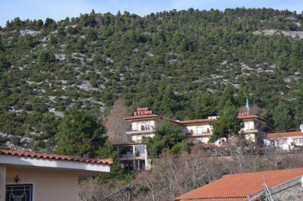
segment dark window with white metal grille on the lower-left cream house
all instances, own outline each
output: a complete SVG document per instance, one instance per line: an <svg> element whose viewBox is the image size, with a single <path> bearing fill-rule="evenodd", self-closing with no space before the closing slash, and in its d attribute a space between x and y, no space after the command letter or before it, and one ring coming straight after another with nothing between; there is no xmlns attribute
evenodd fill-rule
<svg viewBox="0 0 303 201"><path fill-rule="evenodd" d="M33 184L6 185L6 201L32 201Z"/></svg>

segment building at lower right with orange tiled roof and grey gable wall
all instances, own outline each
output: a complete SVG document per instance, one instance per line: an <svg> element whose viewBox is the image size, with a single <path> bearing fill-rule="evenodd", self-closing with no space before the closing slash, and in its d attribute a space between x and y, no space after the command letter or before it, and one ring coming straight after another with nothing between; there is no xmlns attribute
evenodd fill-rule
<svg viewBox="0 0 303 201"><path fill-rule="evenodd" d="M303 200L302 175L303 168L225 175L174 200Z"/></svg>

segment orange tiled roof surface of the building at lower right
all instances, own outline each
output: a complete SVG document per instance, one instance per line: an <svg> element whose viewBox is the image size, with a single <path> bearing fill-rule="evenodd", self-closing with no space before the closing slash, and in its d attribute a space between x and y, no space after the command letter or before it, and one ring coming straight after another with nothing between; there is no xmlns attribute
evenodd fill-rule
<svg viewBox="0 0 303 201"><path fill-rule="evenodd" d="M303 168L225 175L210 184L185 193L174 200L239 201L264 190L263 176L268 188L303 175Z"/></svg>

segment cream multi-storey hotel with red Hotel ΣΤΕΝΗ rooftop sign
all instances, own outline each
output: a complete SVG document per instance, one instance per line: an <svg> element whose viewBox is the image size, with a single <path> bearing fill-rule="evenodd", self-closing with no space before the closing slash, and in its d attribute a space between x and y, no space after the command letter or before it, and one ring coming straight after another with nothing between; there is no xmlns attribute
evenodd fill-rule
<svg viewBox="0 0 303 201"><path fill-rule="evenodd" d="M127 117L124 120L131 122L131 128L126 132L131 136L131 141L128 143L114 144L119 150L119 160L126 171L150 169L150 160L146 145L142 141L143 137L154 137L155 130L158 127L159 121L164 119L169 120L173 124L182 127L182 134L189 143L208 143L212 135L212 127L210 122L217 121L218 116L208 117L208 119L197 119L178 121L171 120L159 115L153 114L148 107L138 108L133 116ZM243 129L241 132L252 141L260 140L262 136L262 128L265 119L248 113L238 115L239 119L243 120ZM261 137L262 136L262 137ZM222 140L218 140L215 144L219 145Z"/></svg>

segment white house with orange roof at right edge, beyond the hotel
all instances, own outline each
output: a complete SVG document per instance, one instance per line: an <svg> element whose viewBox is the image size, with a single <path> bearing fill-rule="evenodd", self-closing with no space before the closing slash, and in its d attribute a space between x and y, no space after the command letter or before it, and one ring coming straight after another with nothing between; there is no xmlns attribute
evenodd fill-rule
<svg viewBox="0 0 303 201"><path fill-rule="evenodd" d="M296 146L303 146L303 125L300 127L300 131L269 133L265 144L273 144L284 151L290 151Z"/></svg>

